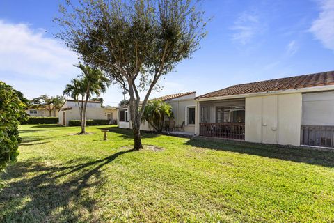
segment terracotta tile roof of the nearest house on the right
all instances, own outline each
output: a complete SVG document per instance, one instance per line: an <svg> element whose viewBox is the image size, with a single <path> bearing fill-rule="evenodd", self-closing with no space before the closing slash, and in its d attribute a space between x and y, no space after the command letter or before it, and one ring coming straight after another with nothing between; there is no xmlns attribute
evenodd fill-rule
<svg viewBox="0 0 334 223"><path fill-rule="evenodd" d="M334 85L334 71L319 72L316 74L301 75L296 77L270 79L267 81L253 82L248 84L237 84L225 89L200 95L196 98L212 98L219 96L280 91L287 89L303 89L312 86L325 85Z"/></svg>

